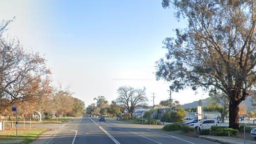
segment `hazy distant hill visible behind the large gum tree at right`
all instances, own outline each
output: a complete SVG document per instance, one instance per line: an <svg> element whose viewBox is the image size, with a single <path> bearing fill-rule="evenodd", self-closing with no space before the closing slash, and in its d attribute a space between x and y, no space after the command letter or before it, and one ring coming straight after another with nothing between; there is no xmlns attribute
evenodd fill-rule
<svg viewBox="0 0 256 144"><path fill-rule="evenodd" d="M242 102L247 106L247 112L255 109L255 107L252 105L251 99L252 97L247 97L247 99ZM203 107L206 107L209 104L209 101L210 101L210 97L202 100ZM194 101L192 103L182 105L182 108L196 108L197 106L198 106L198 101Z"/></svg>

